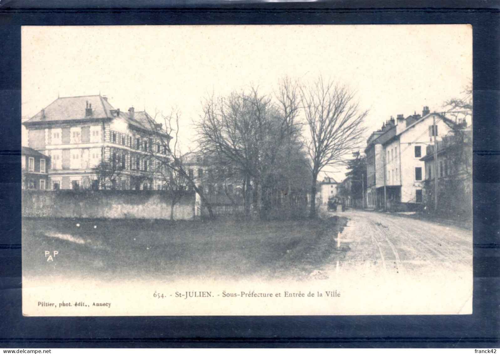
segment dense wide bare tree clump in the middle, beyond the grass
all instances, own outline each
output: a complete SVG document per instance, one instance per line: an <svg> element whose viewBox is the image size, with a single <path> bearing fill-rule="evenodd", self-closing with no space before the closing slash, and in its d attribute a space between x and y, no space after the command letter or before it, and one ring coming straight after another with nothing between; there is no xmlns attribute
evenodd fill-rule
<svg viewBox="0 0 500 354"><path fill-rule="evenodd" d="M274 95L250 86L247 91L205 100L197 124L201 150L223 156L241 172L246 215L251 203L261 218L267 217L278 179L283 177L280 166L289 160L282 157L300 149L300 128L294 122L298 96L297 85L284 79Z"/></svg>

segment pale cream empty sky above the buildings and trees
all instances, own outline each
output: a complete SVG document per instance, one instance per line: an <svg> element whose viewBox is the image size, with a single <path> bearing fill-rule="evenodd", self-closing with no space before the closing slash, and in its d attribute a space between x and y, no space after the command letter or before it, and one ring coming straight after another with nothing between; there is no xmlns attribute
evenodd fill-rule
<svg viewBox="0 0 500 354"><path fill-rule="evenodd" d="M98 93L121 110L176 108L183 152L196 146L203 99L251 83L262 92L285 76L346 84L369 110L369 135L390 116L441 111L472 82L467 24L23 26L21 51L23 117L58 96ZM345 170L325 172L340 181Z"/></svg>

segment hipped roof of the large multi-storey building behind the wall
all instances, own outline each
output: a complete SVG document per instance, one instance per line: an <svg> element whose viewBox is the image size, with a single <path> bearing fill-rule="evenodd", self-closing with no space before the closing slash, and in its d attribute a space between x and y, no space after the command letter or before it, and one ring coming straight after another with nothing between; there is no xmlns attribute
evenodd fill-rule
<svg viewBox="0 0 500 354"><path fill-rule="evenodd" d="M92 115L85 114L86 108L92 108ZM119 113L118 113L119 112ZM30 119L23 122L31 125L37 122L88 120L122 117L128 124L143 130L155 131L168 135L159 125L154 125L154 119L146 111L137 111L133 115L126 111L113 108L106 98L100 94L74 97L58 97L52 103L41 109Z"/></svg>

